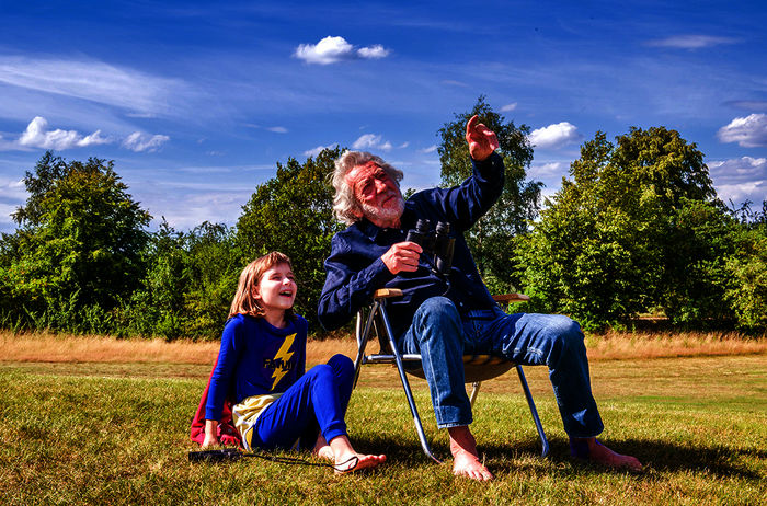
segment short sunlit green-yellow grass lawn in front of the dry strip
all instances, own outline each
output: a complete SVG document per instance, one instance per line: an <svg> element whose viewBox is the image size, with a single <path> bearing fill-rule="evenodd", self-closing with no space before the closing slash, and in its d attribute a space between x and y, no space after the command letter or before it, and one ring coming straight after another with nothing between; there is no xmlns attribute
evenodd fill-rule
<svg viewBox="0 0 767 506"><path fill-rule="evenodd" d="M483 387L472 425L492 483L456 480L420 450L388 368L363 371L348 413L358 450L388 462L364 475L257 459L188 463L188 422L208 366L0 364L0 504L764 504L767 356L592 365L604 440L641 474L573 462L551 388L528 368L549 458L515 376ZM433 449L428 395L413 381Z"/></svg>

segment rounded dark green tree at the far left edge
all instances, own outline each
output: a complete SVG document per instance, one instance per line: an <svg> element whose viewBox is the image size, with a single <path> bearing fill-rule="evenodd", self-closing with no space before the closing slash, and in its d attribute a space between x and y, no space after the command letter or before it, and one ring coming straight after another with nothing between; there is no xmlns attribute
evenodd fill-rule
<svg viewBox="0 0 767 506"><path fill-rule="evenodd" d="M20 228L2 242L10 304L16 312L111 310L138 286L151 216L127 193L114 162L67 163L46 152L24 184L13 215ZM55 325L56 323L53 322Z"/></svg>

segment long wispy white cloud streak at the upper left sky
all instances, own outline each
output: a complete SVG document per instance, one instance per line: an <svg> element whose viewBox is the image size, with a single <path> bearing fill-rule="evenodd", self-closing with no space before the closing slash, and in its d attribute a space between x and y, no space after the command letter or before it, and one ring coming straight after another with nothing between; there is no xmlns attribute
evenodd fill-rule
<svg viewBox="0 0 767 506"><path fill-rule="evenodd" d="M0 82L116 105L139 116L169 111L185 85L101 61L0 57Z"/></svg>

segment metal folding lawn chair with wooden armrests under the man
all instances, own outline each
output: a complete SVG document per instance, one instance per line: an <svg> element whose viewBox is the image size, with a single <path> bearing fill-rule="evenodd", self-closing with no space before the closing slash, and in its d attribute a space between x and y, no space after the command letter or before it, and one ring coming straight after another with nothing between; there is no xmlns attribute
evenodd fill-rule
<svg viewBox="0 0 767 506"><path fill-rule="evenodd" d="M382 288L375 292L373 304L370 304L369 308L360 309L357 313L357 357L354 361L354 386L356 387L357 384L359 370L363 365L394 364L400 373L400 380L402 381L405 398L408 398L408 404L410 405L410 412L413 415L413 423L415 424L415 432L421 440L421 447L427 457L439 463L440 460L434 457L428 446L428 441L426 440L423 424L421 423L421 417L419 416L419 410L415 405L415 401L413 400L413 392L408 381L408 373L419 378L424 378L423 370L412 367L405 368L404 366L405 363L420 365L421 355L400 353L397 343L394 342L394 335L391 332L391 325L389 323L389 317L386 310L386 301L388 298L401 296L402 290L396 288ZM495 299L497 302L512 302L529 300L529 297L520 294L511 294L494 296L493 299ZM371 332L375 332L376 336L378 337L380 352L374 355L365 355L365 347L367 346ZM522 389L525 392L527 405L530 409L530 415L533 415L533 422L535 423L536 430L538 430L538 436L540 437L542 446L541 457L546 457L549 453L549 441L546 438L546 433L543 433L543 426L538 417L538 411L536 410L536 404L533 400L530 389L527 386L527 380L525 379L525 373L522 370L522 366L504 358L490 355L465 355L463 370L466 382L472 383L472 391L469 400L473 406L474 401L477 400L477 394L479 393L480 383L484 380L501 376L512 368L516 368L517 375L519 376L519 382L522 383Z"/></svg>

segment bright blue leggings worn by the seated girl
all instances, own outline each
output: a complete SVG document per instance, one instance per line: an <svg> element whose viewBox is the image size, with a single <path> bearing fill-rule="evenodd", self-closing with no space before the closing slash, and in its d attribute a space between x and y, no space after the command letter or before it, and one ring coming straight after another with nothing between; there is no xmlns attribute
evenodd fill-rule
<svg viewBox="0 0 767 506"><path fill-rule="evenodd" d="M313 448L320 433L331 439L346 435L344 415L352 396L354 364L334 355L314 366L264 410L253 427L253 448Z"/></svg>

